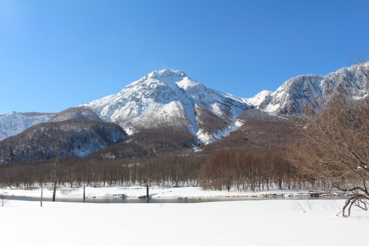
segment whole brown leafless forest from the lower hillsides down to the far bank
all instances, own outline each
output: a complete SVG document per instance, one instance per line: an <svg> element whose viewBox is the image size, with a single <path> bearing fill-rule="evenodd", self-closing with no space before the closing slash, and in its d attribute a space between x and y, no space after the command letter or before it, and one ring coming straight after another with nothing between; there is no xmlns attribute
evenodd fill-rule
<svg viewBox="0 0 369 246"><path fill-rule="evenodd" d="M134 134L119 135L121 138L116 144L85 157L66 153L89 147L91 136L101 136L106 142L109 141L113 133L117 135L114 132L117 126L99 125L86 119L60 121L57 125L36 125L0 144L0 151L6 153L3 158L8 156L11 160L12 155L15 160L0 165L0 185L51 186L57 132L60 142L56 170L58 186L128 186L150 178L151 184L158 186L257 191L301 189L306 182L314 182L298 175L288 160L291 143L296 145L303 141L294 121L255 110L246 110L239 120L243 121L243 125L238 130L204 148L194 146L194 137L187 128L168 125L161 128L142 127ZM86 124L92 124L93 128L81 129ZM214 124L216 128L217 122ZM40 147L37 147L37 139L40 140ZM71 139L73 145L70 145ZM18 146L28 146L30 150L26 148L16 154L14 149L9 151L11 142L20 142L22 145ZM49 148L43 149L46 146ZM34 148L43 150L42 153L47 156L39 155L40 151L32 151ZM25 156L30 152L32 156Z"/></svg>

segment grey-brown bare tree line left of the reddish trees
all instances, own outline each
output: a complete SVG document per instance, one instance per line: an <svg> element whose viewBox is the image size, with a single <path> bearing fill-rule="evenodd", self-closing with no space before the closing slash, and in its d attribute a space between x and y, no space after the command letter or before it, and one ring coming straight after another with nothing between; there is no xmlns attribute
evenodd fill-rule
<svg viewBox="0 0 369 246"><path fill-rule="evenodd" d="M58 186L128 186L150 178L158 186L198 186L206 155L160 155L141 158L61 158ZM0 186L51 186L53 160L0 165Z"/></svg>

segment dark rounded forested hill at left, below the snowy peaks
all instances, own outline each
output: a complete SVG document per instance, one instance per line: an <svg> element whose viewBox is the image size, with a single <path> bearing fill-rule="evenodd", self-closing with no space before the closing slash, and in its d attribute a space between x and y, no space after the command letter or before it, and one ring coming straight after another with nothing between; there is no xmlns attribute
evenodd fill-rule
<svg viewBox="0 0 369 246"><path fill-rule="evenodd" d="M96 120L66 120L35 125L0 141L0 162L50 159L58 143L60 156L86 156L121 142L126 132L117 124Z"/></svg>

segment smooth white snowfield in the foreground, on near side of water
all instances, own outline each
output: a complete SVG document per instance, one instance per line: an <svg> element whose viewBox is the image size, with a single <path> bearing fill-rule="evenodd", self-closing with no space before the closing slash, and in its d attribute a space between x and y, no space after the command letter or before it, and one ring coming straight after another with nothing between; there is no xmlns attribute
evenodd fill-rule
<svg viewBox="0 0 369 246"><path fill-rule="evenodd" d="M343 204L344 200L44 201L40 207L39 201L10 200L0 207L1 242L10 246L365 245L369 213L335 216Z"/></svg>

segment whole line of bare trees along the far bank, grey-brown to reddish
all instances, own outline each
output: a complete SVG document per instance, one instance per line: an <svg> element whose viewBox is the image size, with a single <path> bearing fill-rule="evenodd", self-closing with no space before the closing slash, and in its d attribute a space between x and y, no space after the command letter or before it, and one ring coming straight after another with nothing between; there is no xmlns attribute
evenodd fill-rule
<svg viewBox="0 0 369 246"><path fill-rule="evenodd" d="M299 175L285 150L268 152L218 151L162 153L136 158L90 159L63 157L57 163L58 186L130 186L151 179L155 186L200 186L203 189L261 191L322 188ZM54 160L32 160L0 165L0 186L53 185Z"/></svg>

